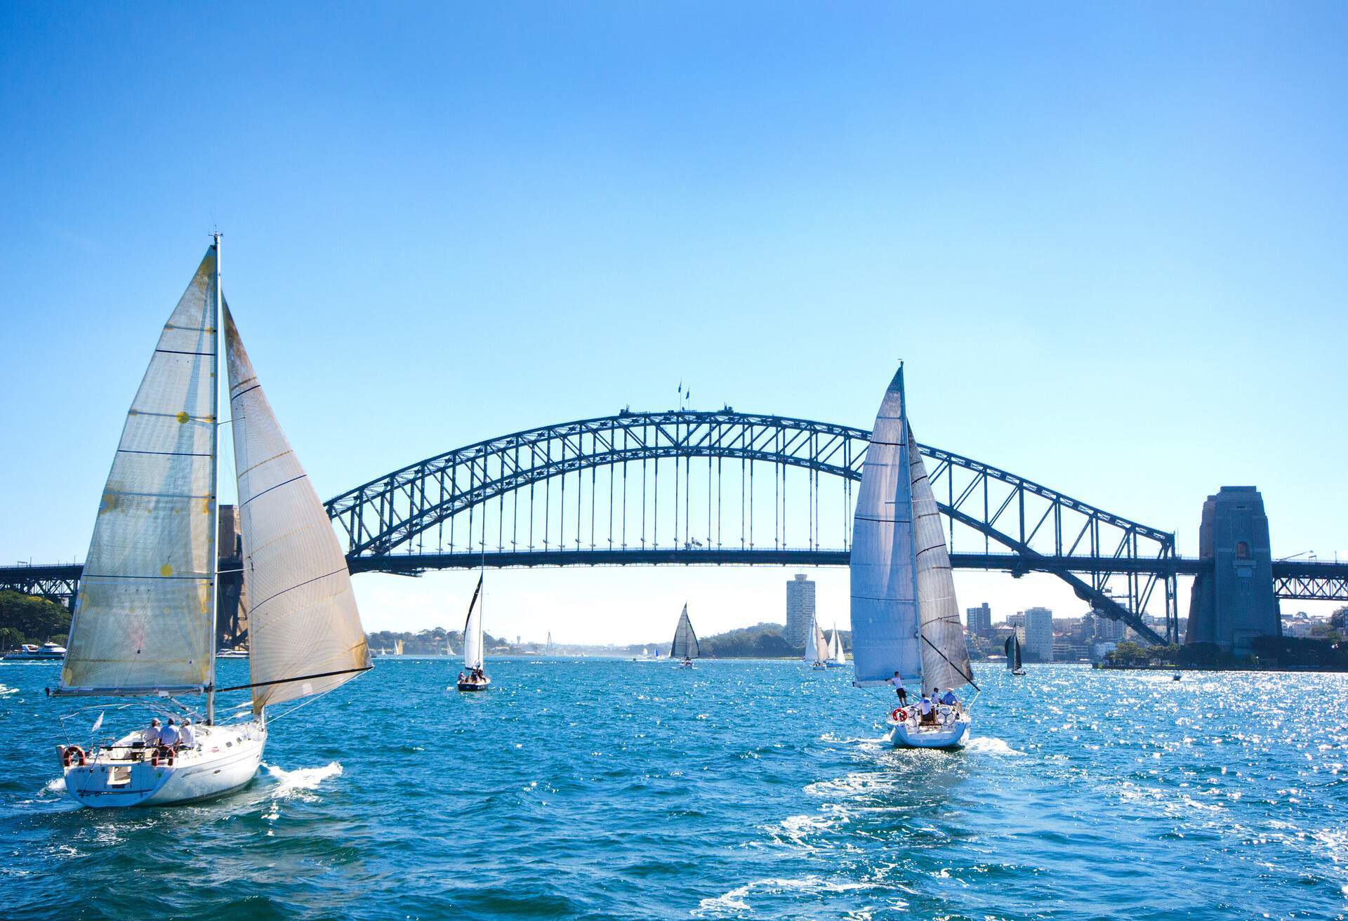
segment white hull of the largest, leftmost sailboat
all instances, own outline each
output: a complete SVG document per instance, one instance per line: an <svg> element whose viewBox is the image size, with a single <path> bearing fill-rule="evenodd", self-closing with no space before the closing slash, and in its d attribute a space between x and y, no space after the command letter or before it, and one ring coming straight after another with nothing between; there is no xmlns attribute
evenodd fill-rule
<svg viewBox="0 0 1348 921"><path fill-rule="evenodd" d="M262 763L262 723L193 727L197 747L179 750L170 767L155 766L152 748L133 748L135 732L100 748L85 766L66 767L66 790L85 806L164 806L195 802L247 786Z"/></svg>

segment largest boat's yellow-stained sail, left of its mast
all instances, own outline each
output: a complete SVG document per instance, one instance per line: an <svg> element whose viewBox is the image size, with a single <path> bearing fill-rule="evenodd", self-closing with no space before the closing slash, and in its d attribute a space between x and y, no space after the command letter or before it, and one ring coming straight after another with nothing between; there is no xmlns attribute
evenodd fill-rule
<svg viewBox="0 0 1348 921"><path fill-rule="evenodd" d="M209 685L216 651L216 248L164 324L89 542L63 689Z"/></svg>

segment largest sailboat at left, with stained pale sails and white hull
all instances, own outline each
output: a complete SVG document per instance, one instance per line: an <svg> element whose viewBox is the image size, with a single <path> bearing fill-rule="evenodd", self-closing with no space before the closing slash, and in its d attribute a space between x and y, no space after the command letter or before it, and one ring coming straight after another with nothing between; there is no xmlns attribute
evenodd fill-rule
<svg viewBox="0 0 1348 921"><path fill-rule="evenodd" d="M221 324L221 320L224 324ZM220 336L229 392L249 681L216 686ZM220 290L220 235L159 336L104 488L69 654L54 694L204 694L193 739L131 732L62 748L66 790L89 806L206 800L247 785L267 742L266 708L332 690L371 667L346 560L257 383ZM216 693L249 690L249 719L220 724ZM189 711L190 712L190 711ZM101 723L101 720L100 720Z"/></svg>

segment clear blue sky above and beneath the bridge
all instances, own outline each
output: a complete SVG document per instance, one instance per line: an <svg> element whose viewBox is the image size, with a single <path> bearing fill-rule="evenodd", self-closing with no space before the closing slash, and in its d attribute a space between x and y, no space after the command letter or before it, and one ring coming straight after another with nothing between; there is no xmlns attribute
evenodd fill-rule
<svg viewBox="0 0 1348 921"><path fill-rule="evenodd" d="M1335 3L4 4L0 560L84 558L216 227L325 498L679 380L868 426L903 357L923 441L1185 553L1223 484L1348 550L1345 47ZM504 572L488 630L713 632L789 577ZM418 628L470 576L356 587Z"/></svg>

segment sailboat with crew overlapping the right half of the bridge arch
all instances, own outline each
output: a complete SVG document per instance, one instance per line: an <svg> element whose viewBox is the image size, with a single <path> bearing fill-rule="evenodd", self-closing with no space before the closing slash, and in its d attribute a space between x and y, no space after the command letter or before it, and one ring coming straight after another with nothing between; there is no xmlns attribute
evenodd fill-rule
<svg viewBox="0 0 1348 921"><path fill-rule="evenodd" d="M922 454L913 437L899 365L867 448L852 541L853 684L954 689L973 684L950 554ZM977 685L975 685L977 686ZM953 748L969 735L968 708L933 703L890 713L890 742Z"/></svg>

